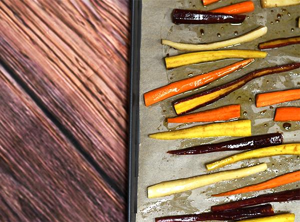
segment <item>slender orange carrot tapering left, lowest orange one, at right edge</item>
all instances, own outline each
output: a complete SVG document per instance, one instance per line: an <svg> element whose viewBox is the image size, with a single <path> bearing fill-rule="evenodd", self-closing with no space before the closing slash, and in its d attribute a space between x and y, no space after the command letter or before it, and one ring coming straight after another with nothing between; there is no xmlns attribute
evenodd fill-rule
<svg viewBox="0 0 300 222"><path fill-rule="evenodd" d="M293 183L296 181L300 181L300 171L291 172L288 174L281 175L279 177L272 178L270 180L264 181L259 184L253 184L250 186L238 188L232 191L220 193L220 194L214 194L213 197L222 197L222 196L229 196L233 194L242 194L247 192L253 192L253 191L261 191L265 189L270 189L274 187L278 187L284 184Z"/></svg>

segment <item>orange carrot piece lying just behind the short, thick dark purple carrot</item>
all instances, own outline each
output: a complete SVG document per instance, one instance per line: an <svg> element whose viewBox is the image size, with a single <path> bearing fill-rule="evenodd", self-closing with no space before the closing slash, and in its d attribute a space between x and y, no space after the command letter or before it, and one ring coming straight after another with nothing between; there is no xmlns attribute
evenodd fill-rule
<svg viewBox="0 0 300 222"><path fill-rule="evenodd" d="M230 4L225 7L216 8L210 10L211 12L226 13L226 14L241 14L254 10L254 4L252 1L243 1L236 4Z"/></svg>

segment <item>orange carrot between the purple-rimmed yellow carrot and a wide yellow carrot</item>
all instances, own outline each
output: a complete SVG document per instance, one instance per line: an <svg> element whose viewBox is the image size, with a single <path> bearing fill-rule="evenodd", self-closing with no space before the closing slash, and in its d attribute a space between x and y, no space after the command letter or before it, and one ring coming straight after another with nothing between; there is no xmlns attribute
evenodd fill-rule
<svg viewBox="0 0 300 222"><path fill-rule="evenodd" d="M168 118L168 123L215 122L237 119L240 117L240 105L222 106L184 116Z"/></svg>

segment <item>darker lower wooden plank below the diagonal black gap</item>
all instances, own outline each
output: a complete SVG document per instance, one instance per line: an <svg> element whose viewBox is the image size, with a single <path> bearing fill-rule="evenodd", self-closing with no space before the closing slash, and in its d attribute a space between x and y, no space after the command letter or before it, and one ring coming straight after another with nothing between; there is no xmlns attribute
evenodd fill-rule
<svg viewBox="0 0 300 222"><path fill-rule="evenodd" d="M124 221L123 199L2 66L0 113L0 221Z"/></svg>

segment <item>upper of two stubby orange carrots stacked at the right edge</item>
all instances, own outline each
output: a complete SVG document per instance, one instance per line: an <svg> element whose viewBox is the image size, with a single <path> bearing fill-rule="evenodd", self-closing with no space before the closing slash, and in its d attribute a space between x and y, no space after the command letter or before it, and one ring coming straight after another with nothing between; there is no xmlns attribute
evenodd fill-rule
<svg viewBox="0 0 300 222"><path fill-rule="evenodd" d="M300 89L267 92L256 96L256 107L269 106L300 99Z"/></svg>

